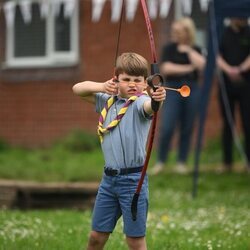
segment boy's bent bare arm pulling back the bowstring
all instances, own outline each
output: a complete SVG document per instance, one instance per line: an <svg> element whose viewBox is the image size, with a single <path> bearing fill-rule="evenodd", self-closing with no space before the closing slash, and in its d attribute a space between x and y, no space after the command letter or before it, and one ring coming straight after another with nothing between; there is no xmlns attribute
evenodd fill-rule
<svg viewBox="0 0 250 250"><path fill-rule="evenodd" d="M96 93L114 94L117 91L117 84L113 79L106 82L84 81L75 84L72 90L74 94L81 96L84 100L95 103Z"/></svg>

